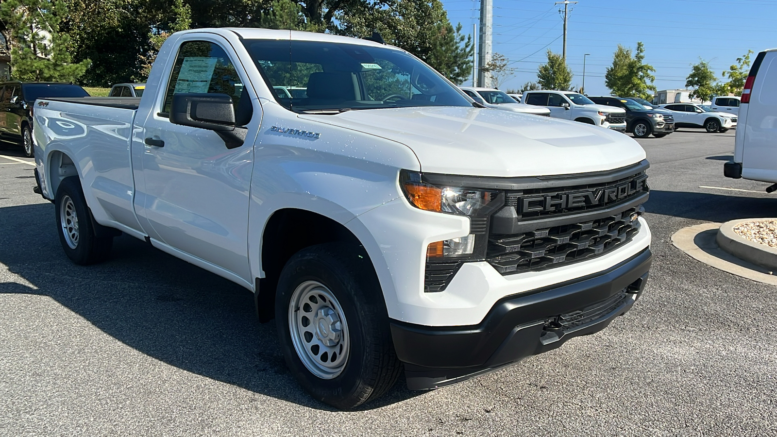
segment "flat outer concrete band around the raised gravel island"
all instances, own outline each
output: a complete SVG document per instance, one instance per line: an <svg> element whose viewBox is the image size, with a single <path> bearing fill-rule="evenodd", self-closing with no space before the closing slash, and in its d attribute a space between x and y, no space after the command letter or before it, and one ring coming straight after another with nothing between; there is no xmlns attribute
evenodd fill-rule
<svg viewBox="0 0 777 437"><path fill-rule="evenodd" d="M688 226L674 232L672 244L688 254L689 257L718 270L736 274L752 281L777 285L777 276L770 273L772 269L749 263L721 250L715 241L719 228L720 223Z"/></svg>

